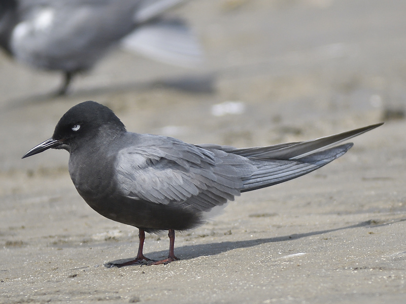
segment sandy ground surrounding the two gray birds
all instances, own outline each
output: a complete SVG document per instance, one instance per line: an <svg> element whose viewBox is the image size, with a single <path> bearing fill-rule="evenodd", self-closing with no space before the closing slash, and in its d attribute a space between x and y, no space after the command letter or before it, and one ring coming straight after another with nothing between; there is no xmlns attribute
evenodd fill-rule
<svg viewBox="0 0 406 304"><path fill-rule="evenodd" d="M200 36L205 66L117 51L61 98L50 97L58 73L2 54L0 302L404 303L405 11L397 0L194 0L174 13ZM180 261L109 269L136 254L137 229L85 204L65 151L20 159L89 99L130 131L191 143L266 145L386 124L328 166L177 234ZM234 112L214 115L227 101ZM166 235L147 235L147 256L167 248Z"/></svg>

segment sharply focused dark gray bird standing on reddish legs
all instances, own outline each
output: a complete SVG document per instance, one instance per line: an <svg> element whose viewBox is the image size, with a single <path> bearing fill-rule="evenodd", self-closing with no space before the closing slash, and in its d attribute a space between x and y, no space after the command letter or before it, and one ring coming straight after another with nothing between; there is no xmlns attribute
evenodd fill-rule
<svg viewBox="0 0 406 304"><path fill-rule="evenodd" d="M342 141L382 124L308 141L235 148L128 132L110 108L85 101L66 111L52 137L22 158L49 148L69 151L69 173L86 203L109 219L139 229L136 258L110 266L166 264L178 259L175 231L204 224L243 192L330 163L353 145ZM143 253L145 232L161 231L168 231L168 256L151 260Z"/></svg>

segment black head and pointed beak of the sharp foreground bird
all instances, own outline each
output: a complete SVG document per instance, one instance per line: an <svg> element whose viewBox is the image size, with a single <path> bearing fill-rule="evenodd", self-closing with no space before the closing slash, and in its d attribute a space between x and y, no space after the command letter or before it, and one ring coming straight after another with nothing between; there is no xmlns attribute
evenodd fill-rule
<svg viewBox="0 0 406 304"><path fill-rule="evenodd" d="M30 149L22 158L49 148L72 152L100 132L104 132L105 136L114 137L125 132L125 126L107 106L94 101L85 101L64 113L52 137Z"/></svg>

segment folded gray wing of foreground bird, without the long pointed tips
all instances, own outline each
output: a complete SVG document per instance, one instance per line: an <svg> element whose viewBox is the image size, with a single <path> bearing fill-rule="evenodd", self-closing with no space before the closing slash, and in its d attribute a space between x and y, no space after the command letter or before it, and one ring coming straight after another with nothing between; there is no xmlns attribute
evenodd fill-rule
<svg viewBox="0 0 406 304"><path fill-rule="evenodd" d="M256 170L238 155L144 136L142 145L120 150L116 161L117 182L130 198L208 211L240 195L242 179Z"/></svg>

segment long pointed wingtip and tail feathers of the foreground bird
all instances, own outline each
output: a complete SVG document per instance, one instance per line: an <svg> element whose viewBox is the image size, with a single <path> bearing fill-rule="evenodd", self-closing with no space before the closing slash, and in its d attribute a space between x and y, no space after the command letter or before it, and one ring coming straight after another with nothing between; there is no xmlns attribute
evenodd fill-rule
<svg viewBox="0 0 406 304"><path fill-rule="evenodd" d="M241 192L246 192L310 173L344 155L353 144L334 145L381 125L382 123L314 140L267 147L234 148L213 144L199 146L217 148L248 158L257 171L251 176L243 178L244 185Z"/></svg>

